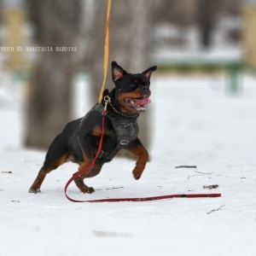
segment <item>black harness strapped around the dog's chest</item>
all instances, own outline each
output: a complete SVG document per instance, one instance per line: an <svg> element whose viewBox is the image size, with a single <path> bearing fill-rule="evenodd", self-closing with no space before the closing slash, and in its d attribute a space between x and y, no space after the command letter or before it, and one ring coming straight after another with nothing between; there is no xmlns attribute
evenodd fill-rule
<svg viewBox="0 0 256 256"><path fill-rule="evenodd" d="M96 106L92 109L102 113L104 107L102 104L96 104ZM112 115L108 112L105 113L105 116L111 120L111 124L113 125L113 129L118 139L118 144L111 151L102 150L98 158L113 160L113 157L119 152L120 149L125 148L125 146L127 146L134 137L137 137L137 116L124 118L120 115Z"/></svg>

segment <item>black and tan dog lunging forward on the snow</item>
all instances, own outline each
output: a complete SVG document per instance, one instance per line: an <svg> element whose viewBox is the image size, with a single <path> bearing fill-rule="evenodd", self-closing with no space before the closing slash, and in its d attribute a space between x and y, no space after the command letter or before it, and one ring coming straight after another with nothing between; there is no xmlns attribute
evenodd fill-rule
<svg viewBox="0 0 256 256"><path fill-rule="evenodd" d="M38 193L47 173L71 160L79 164L79 171L94 160L102 136L102 110L107 110L103 131L102 151L95 166L86 175L74 181L83 193L92 193L93 188L84 184L85 177L94 177L104 163L113 160L121 148L125 148L138 157L133 170L135 179L141 177L148 161L148 151L138 139L137 118L146 110L150 102L149 80L156 67L150 67L143 73L125 72L115 61L112 62L112 78L115 88L105 90L101 103L87 113L84 118L68 123L64 130L50 144L44 160L44 166L32 183L29 192Z"/></svg>

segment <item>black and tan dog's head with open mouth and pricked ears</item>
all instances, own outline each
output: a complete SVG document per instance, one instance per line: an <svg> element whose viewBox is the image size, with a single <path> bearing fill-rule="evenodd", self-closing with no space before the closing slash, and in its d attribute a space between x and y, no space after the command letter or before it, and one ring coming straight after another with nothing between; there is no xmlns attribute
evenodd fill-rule
<svg viewBox="0 0 256 256"><path fill-rule="evenodd" d="M112 79L115 84L115 100L123 113L141 113L150 103L150 76L156 66L143 73L127 73L117 62L112 62Z"/></svg>

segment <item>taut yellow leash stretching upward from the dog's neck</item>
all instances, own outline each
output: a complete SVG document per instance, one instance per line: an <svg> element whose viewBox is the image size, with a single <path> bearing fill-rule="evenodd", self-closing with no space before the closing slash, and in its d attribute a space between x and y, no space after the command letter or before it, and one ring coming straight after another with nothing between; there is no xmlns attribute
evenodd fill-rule
<svg viewBox="0 0 256 256"><path fill-rule="evenodd" d="M106 78L108 73L108 46L109 46L109 19L110 19L110 10L111 10L111 0L108 0L108 11L107 11L107 20L106 20L106 29L105 29L105 46L104 46L104 79L102 83L102 90L99 96L99 102L102 102L103 90L106 84Z"/></svg>

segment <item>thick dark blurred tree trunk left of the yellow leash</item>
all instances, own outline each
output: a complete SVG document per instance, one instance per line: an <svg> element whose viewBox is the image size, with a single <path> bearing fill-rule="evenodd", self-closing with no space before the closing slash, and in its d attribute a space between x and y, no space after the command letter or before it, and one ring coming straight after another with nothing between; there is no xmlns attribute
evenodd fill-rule
<svg viewBox="0 0 256 256"><path fill-rule="evenodd" d="M28 86L25 143L47 148L71 119L74 52L55 51L55 47L75 46L80 2L33 0L29 4L39 44L53 51L40 52Z"/></svg>

